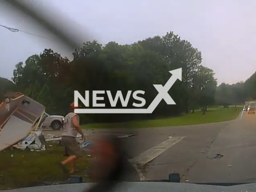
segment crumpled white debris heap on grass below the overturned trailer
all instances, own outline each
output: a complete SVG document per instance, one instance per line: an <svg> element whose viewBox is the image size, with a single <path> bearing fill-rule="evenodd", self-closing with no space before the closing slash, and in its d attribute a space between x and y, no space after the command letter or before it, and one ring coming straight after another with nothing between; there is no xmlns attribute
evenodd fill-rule
<svg viewBox="0 0 256 192"><path fill-rule="evenodd" d="M31 132L24 140L18 142L13 147L25 150L29 148L30 151L44 151L46 150L46 140L42 131Z"/></svg>

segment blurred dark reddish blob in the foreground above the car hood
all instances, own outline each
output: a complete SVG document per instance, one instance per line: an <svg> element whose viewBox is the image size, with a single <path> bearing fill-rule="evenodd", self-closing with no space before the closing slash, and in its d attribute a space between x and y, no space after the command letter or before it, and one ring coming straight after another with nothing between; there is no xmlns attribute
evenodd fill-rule
<svg viewBox="0 0 256 192"><path fill-rule="evenodd" d="M126 175L127 161L122 139L113 135L98 138L91 149L94 162L90 175L97 183L87 192L112 190Z"/></svg>

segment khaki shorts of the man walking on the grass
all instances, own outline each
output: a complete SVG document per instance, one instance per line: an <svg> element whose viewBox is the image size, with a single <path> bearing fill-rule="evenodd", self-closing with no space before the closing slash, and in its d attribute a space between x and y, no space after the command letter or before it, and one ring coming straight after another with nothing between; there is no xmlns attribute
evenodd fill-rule
<svg viewBox="0 0 256 192"><path fill-rule="evenodd" d="M63 146L66 147L66 152L71 156L75 155L78 157L82 156L81 148L76 141L76 138L71 137L71 136L62 136L61 138L61 143Z"/></svg>

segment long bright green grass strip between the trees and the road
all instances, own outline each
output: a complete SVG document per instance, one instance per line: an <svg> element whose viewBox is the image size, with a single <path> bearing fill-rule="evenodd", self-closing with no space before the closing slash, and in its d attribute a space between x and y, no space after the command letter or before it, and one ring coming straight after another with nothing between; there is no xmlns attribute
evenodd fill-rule
<svg viewBox="0 0 256 192"><path fill-rule="evenodd" d="M82 128L149 128L224 122L235 119L241 112L242 108L230 107L228 109L220 106L208 108L207 110L208 111L204 115L202 115L201 110L195 110L194 114L183 114L178 117L162 118L156 120L131 121L123 123L86 124L83 125Z"/></svg>

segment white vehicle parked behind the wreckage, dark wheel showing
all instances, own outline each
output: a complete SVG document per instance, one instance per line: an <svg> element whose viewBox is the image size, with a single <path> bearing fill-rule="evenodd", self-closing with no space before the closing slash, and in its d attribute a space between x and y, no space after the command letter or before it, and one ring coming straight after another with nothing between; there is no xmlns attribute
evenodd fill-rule
<svg viewBox="0 0 256 192"><path fill-rule="evenodd" d="M50 127L53 130L60 130L62 128L64 116L49 115L47 113L44 113L44 115L46 116L46 118L44 119L42 128Z"/></svg>

